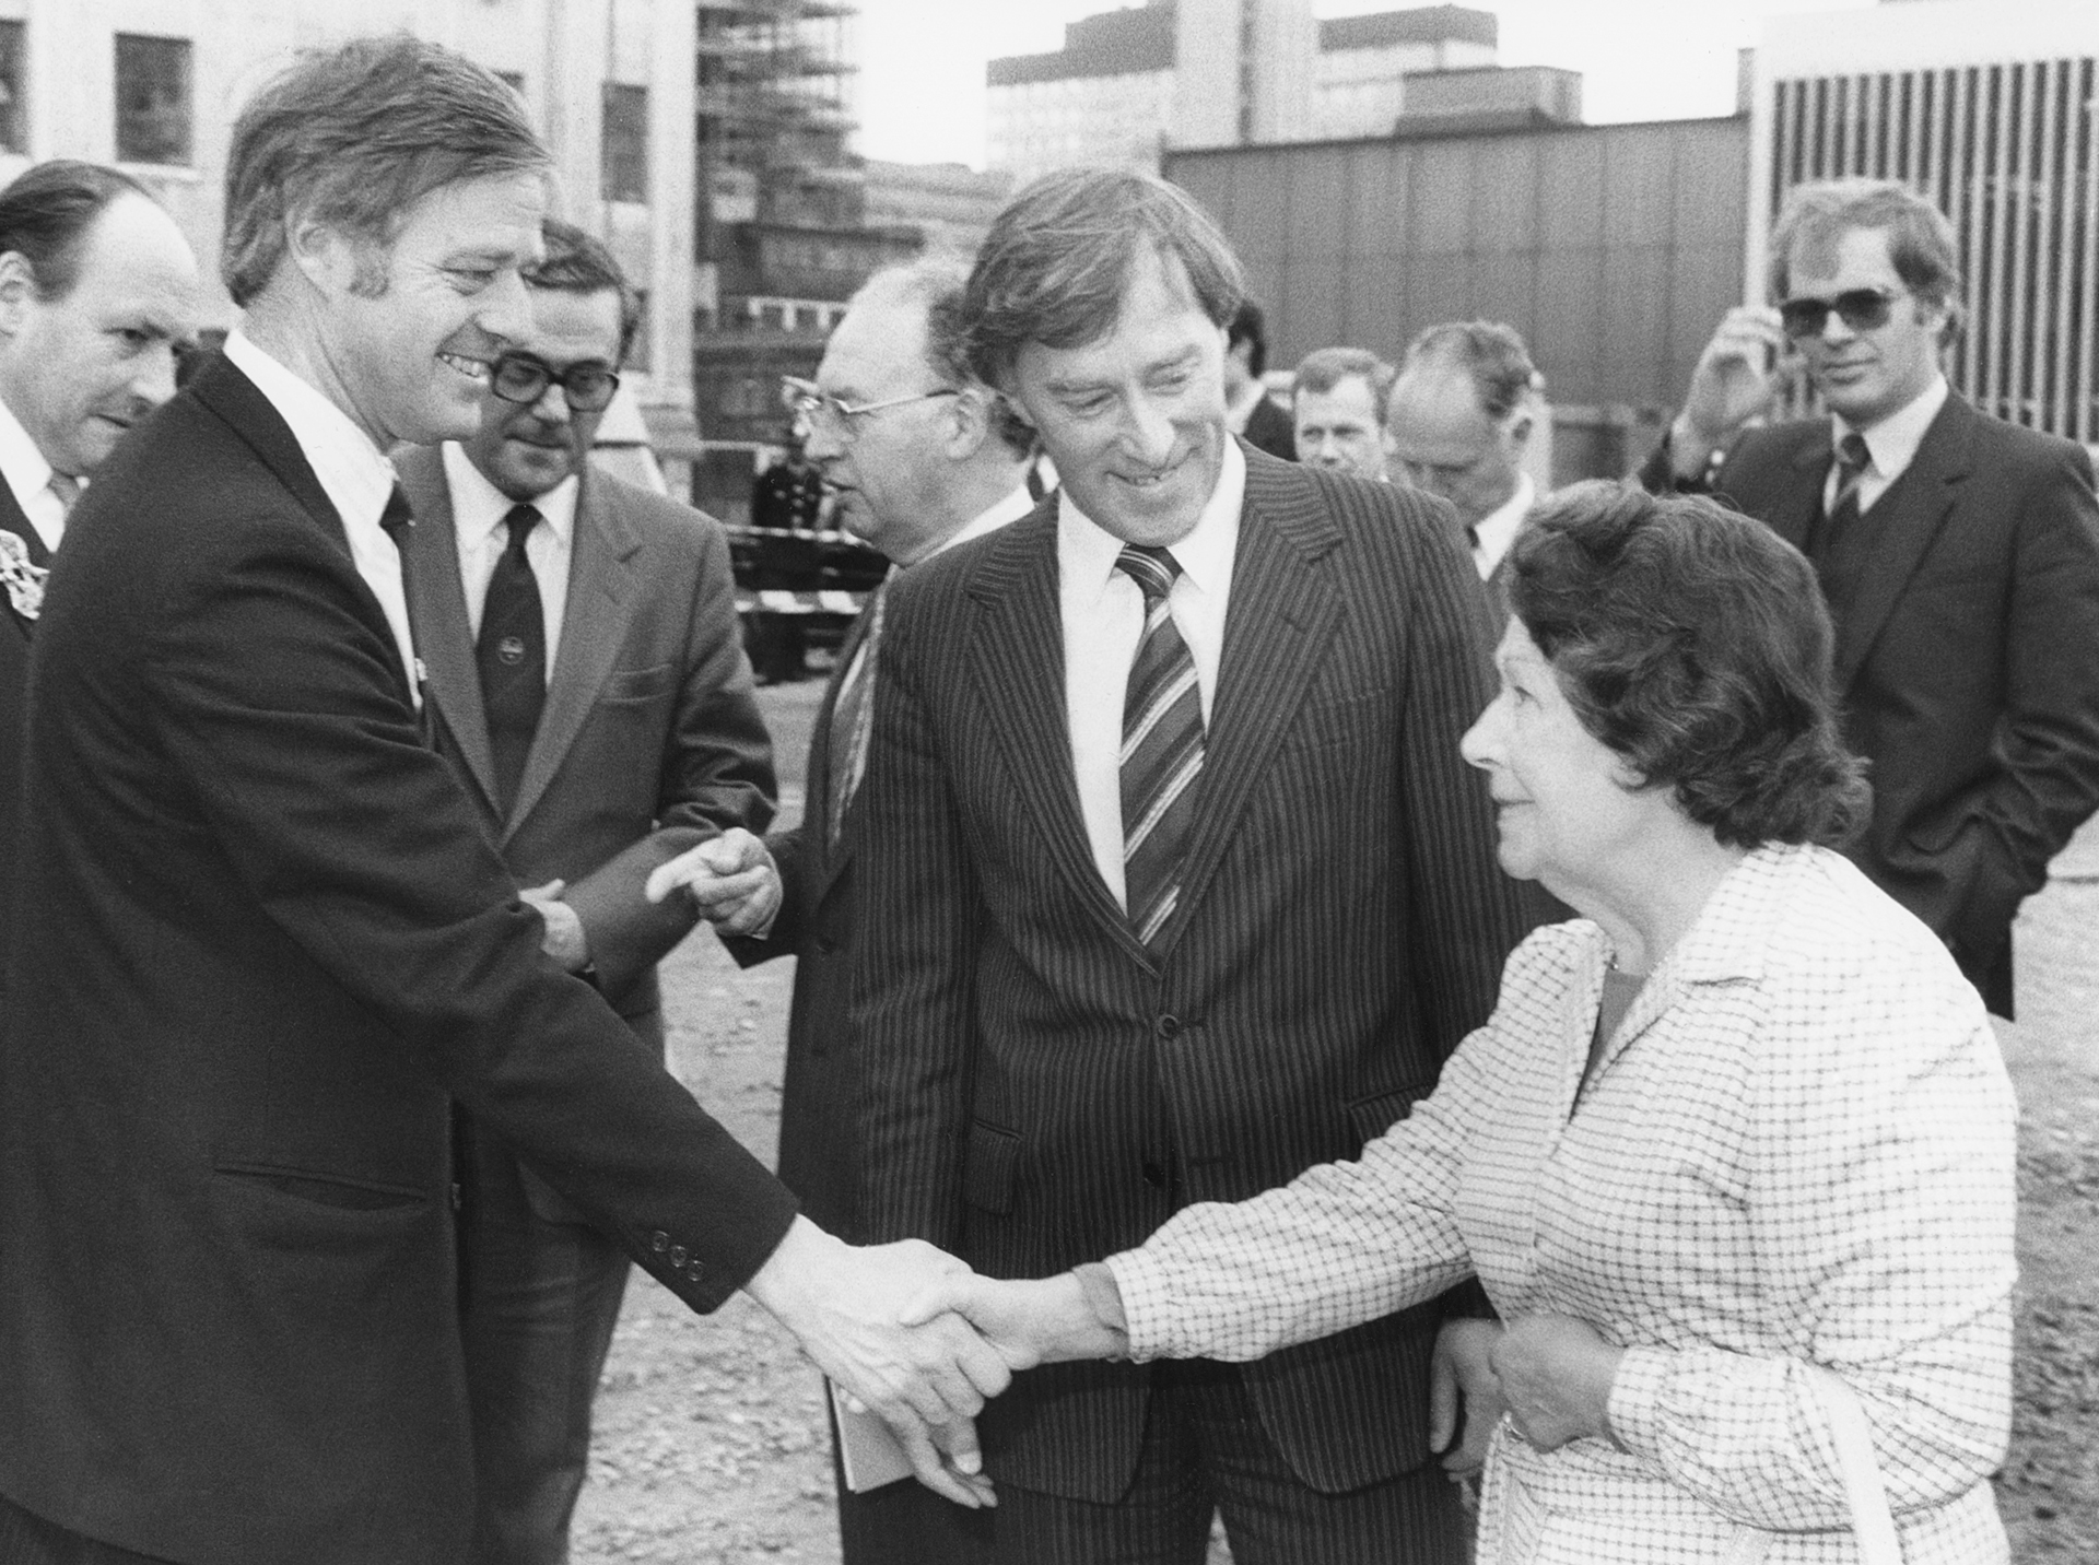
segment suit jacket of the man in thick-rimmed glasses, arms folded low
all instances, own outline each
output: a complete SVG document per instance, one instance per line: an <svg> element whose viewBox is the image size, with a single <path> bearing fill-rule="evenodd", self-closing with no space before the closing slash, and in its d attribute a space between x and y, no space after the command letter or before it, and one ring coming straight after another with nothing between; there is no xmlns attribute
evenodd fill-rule
<svg viewBox="0 0 2099 1565"><path fill-rule="evenodd" d="M437 447L397 464L416 512L409 615L437 747L521 885L565 879L598 988L661 1049L655 965L691 898L642 898L649 871L728 827L772 818L772 743L737 625L728 539L712 516L588 470L546 711L502 818L460 537Z"/></svg>

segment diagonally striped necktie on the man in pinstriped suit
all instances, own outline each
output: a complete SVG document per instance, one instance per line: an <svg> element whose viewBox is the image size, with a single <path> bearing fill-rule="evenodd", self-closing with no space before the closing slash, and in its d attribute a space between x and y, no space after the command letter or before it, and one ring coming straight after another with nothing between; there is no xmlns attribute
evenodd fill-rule
<svg viewBox="0 0 2099 1565"><path fill-rule="evenodd" d="M1180 560L1125 545L1115 569L1144 594L1144 636L1123 696L1123 902L1146 946L1180 902L1180 875L1203 776L1203 692L1167 610Z"/></svg>

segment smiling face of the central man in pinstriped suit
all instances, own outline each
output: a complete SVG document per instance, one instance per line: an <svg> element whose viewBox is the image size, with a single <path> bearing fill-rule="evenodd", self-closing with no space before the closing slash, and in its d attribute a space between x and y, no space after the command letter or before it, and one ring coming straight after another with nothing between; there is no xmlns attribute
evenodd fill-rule
<svg viewBox="0 0 2099 1565"><path fill-rule="evenodd" d="M1186 537L1224 468L1224 329L1178 258L1146 250L1106 336L1029 342L1005 392L1073 501L1125 543Z"/></svg>

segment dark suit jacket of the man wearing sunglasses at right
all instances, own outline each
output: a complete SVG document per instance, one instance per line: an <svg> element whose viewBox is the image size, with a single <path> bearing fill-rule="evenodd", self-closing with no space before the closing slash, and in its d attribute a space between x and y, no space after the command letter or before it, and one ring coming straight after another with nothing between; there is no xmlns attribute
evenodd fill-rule
<svg viewBox="0 0 2099 1565"><path fill-rule="evenodd" d="M1751 430L1717 497L1801 545L1828 420ZM1667 455L1650 487L1667 485ZM2084 449L1958 396L1877 503L1874 571L1837 615L1845 743L1872 764L1849 854L2011 1015L2011 921L2099 803L2099 503Z"/></svg>

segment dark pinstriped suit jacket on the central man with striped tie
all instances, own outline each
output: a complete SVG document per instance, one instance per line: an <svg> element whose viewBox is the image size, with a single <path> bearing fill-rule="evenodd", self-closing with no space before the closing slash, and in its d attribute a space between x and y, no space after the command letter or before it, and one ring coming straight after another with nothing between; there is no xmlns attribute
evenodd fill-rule
<svg viewBox="0 0 2099 1565"><path fill-rule="evenodd" d="M863 793L854 1017L873 1238L1035 1278L1350 1158L1494 1003L1524 921L1459 734L1488 701L1448 512L1247 455L1203 801L1152 957L1094 869L1070 770L1056 510L890 602ZM1178 1166L1178 1179L1175 1179ZM1337 1492L1425 1460L1436 1307L1245 1370ZM1117 1500L1148 1372L1033 1370L982 1416L1022 1487Z"/></svg>

